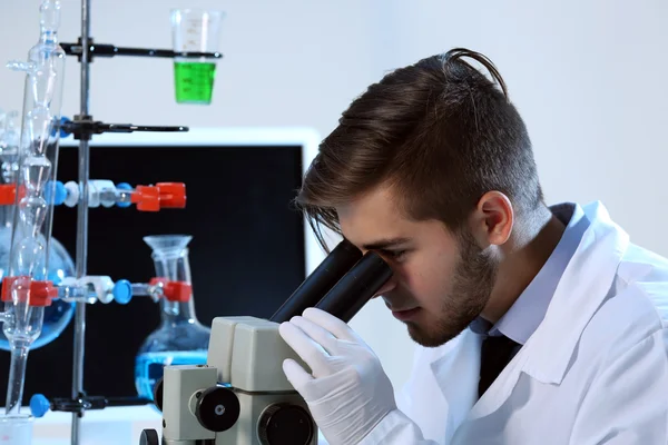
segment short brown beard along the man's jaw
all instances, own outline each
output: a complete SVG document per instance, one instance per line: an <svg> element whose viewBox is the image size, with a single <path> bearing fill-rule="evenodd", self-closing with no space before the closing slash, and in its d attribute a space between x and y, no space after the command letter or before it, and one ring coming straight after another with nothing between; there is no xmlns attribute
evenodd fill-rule
<svg viewBox="0 0 668 445"><path fill-rule="evenodd" d="M409 335L421 346L438 347L460 335L480 316L492 294L497 261L469 231L462 230L459 238L460 255L452 285L435 322L407 323Z"/></svg>

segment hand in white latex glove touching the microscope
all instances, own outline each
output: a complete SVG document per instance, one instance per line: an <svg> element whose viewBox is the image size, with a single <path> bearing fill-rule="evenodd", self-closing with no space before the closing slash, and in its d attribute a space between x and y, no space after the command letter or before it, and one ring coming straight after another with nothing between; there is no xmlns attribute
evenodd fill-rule
<svg viewBox="0 0 668 445"><path fill-rule="evenodd" d="M293 359L283 363L285 376L330 445L360 443L396 408L379 358L341 319L308 308L303 317L283 323L279 333L312 370Z"/></svg>

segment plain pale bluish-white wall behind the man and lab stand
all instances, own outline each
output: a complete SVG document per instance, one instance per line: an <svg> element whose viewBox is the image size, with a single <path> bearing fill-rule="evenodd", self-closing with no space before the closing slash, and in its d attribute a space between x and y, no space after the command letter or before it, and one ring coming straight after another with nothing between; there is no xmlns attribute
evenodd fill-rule
<svg viewBox="0 0 668 445"><path fill-rule="evenodd" d="M79 2L62 4L61 38L72 41L80 34ZM37 6L0 2L1 61L24 59L37 38ZM505 78L532 136L548 199L602 199L632 240L668 255L668 3L94 0L94 37L117 46L169 47L168 9L175 6L228 13L215 103L177 106L168 60L99 59L91 81L96 118L310 126L325 136L350 101L387 70L464 46L489 56ZM78 109L77 68L70 60L69 115ZM0 70L0 107L19 106L22 76ZM401 385L412 349L403 326L381 301L352 325Z"/></svg>

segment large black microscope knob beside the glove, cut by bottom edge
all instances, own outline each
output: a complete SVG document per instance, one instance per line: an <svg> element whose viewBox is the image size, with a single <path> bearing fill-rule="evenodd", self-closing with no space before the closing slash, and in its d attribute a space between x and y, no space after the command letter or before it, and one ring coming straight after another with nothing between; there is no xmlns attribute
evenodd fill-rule
<svg viewBox="0 0 668 445"><path fill-rule="evenodd" d="M262 445L308 445L315 434L311 414L287 403L269 405L259 416L257 427Z"/></svg>

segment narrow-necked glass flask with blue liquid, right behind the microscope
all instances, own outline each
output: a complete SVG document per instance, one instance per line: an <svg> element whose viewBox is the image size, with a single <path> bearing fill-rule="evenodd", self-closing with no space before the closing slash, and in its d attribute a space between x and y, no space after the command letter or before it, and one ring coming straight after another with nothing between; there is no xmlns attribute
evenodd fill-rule
<svg viewBox="0 0 668 445"><path fill-rule="evenodd" d="M168 281L191 284L188 261L188 235L147 236L144 241L153 248L156 277ZM194 293L185 301L160 298L160 325L137 353L135 385L139 397L153 399L156 383L166 365L205 365L210 329L195 315Z"/></svg>

